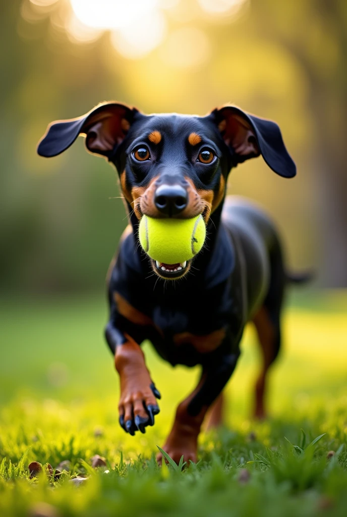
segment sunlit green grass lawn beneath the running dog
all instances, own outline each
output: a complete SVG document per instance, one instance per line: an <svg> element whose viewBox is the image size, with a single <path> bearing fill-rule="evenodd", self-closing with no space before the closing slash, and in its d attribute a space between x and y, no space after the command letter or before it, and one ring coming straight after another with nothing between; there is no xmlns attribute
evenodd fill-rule
<svg viewBox="0 0 347 517"><path fill-rule="evenodd" d="M249 418L258 348L248 328L226 428L202 434L197 465L159 468L157 446L198 370L170 368L146 343L161 413L145 435L125 435L102 295L0 301L0 515L345 515L346 309L347 293L290 300L264 422ZM106 458L106 474L90 467L94 454ZM63 460L70 466L59 479L45 467L29 479L31 461ZM89 479L77 487L77 475Z"/></svg>

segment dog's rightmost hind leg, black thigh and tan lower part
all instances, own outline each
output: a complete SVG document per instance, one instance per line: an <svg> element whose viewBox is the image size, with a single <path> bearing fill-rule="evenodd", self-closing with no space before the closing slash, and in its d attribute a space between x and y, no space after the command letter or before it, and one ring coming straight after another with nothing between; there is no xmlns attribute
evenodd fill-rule
<svg viewBox="0 0 347 517"><path fill-rule="evenodd" d="M281 344L280 316L286 275L278 241L270 253L270 285L262 307L253 317L262 351L262 368L255 386L254 417L265 418L267 373Z"/></svg>

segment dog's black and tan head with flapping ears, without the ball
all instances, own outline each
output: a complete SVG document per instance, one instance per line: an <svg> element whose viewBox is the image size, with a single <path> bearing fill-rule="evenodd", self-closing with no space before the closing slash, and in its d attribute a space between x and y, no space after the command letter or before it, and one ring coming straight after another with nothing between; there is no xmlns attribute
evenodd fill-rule
<svg viewBox="0 0 347 517"><path fill-rule="evenodd" d="M295 176L277 124L229 105L199 117L144 115L124 104L101 104L82 117L50 124L38 154L56 156L80 134L91 153L116 165L125 200L138 220L144 214L202 214L207 224L224 199L230 169L260 154L280 176ZM166 271L152 263L164 278L182 277L190 268L190 261L182 269L165 264Z"/></svg>

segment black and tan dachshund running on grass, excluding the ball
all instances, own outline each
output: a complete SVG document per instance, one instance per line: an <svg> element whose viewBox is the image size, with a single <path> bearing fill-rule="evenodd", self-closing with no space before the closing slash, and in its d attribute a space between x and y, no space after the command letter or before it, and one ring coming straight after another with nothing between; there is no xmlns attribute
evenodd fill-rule
<svg viewBox="0 0 347 517"><path fill-rule="evenodd" d="M120 376L120 425L131 435L145 432L159 413L160 393L140 348L149 339L172 366L201 365L200 381L179 404L164 445L176 462L182 454L196 462L208 409L212 406L214 425L222 418L222 391L249 321L263 352L254 413L265 415L266 372L279 351L283 291L290 282L273 223L250 202L226 197L228 174L259 155L285 178L295 176L295 164L274 122L231 105L200 117L144 115L109 102L82 117L52 123L38 153L56 156L80 134L91 153L116 166L129 210L130 224L109 269L105 331ZM204 248L192 261L153 261L138 242L144 214L202 214L208 235Z"/></svg>

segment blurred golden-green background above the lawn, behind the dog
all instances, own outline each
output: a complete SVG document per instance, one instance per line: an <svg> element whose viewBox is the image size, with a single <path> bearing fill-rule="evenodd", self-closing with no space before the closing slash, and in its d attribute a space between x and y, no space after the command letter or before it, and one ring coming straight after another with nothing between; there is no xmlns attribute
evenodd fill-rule
<svg viewBox="0 0 347 517"><path fill-rule="evenodd" d="M261 158L229 192L262 203L291 268L347 286L347 5L343 0L2 0L3 290L100 288L125 226L117 175L83 139L43 159L54 119L104 100L203 115L232 102L272 118L297 164Z"/></svg>

